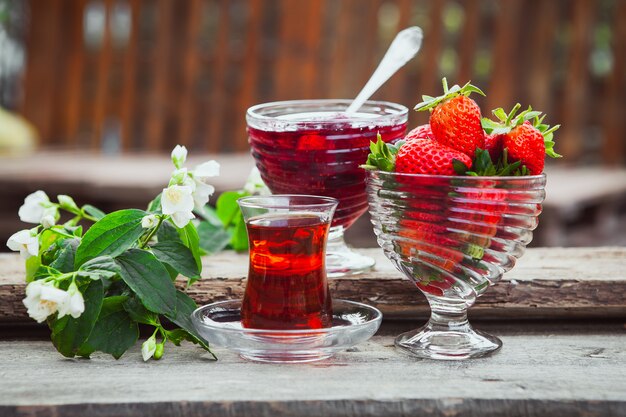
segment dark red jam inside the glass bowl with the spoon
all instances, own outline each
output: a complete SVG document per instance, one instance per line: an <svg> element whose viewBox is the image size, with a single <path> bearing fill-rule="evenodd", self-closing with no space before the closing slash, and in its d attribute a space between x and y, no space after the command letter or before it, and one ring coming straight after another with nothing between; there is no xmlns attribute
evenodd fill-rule
<svg viewBox="0 0 626 417"><path fill-rule="evenodd" d="M332 226L348 228L367 209L365 172L359 165L367 160L370 141L377 133L385 142L405 134L406 114L392 122L388 117L296 113L262 126L249 118L248 138L261 177L274 194L334 197L339 206Z"/></svg>

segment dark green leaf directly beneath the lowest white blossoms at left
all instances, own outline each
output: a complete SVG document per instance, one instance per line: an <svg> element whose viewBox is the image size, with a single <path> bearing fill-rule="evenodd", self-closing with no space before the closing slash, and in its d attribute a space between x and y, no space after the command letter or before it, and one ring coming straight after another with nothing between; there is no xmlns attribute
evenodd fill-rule
<svg viewBox="0 0 626 417"><path fill-rule="evenodd" d="M96 323L102 307L102 281L90 281L81 286L80 291L85 299L85 311L77 319L64 316L50 321L52 343L63 356L76 356L80 346L85 343Z"/></svg>

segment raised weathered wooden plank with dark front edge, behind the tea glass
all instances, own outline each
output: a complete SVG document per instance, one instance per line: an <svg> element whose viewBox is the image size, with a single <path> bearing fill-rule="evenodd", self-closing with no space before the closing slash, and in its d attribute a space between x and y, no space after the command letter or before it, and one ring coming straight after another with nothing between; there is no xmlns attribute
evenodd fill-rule
<svg viewBox="0 0 626 417"><path fill-rule="evenodd" d="M426 317L421 293L379 249L363 249L377 260L370 273L330 281L335 298L362 301L387 318ZM470 309L473 317L626 317L626 248L529 249L502 282ZM204 258L203 279L188 293L199 304L240 298L247 255L224 252ZM182 285L182 283L181 283ZM0 322L28 320L22 305L23 266L16 255L0 255Z"/></svg>

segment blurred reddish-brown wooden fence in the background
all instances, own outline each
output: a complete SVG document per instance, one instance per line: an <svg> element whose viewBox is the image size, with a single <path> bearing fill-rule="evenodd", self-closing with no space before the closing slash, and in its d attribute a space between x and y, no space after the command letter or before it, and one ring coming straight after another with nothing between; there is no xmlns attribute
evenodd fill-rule
<svg viewBox="0 0 626 417"><path fill-rule="evenodd" d="M484 109L519 101L561 123L568 161L626 160L626 0L30 0L28 10L21 110L46 147L245 151L248 106L353 97L395 33L417 24L422 51L375 98L412 106L444 75L471 79L488 92Z"/></svg>

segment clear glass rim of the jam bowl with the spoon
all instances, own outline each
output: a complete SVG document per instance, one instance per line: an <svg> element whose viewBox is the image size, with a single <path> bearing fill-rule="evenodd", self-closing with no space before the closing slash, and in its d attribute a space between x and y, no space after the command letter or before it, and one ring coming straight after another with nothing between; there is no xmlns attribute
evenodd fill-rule
<svg viewBox="0 0 626 417"><path fill-rule="evenodd" d="M319 104L319 105L338 104L338 105L345 105L345 108L348 108L348 106L350 105L350 103L352 103L352 101L353 99L303 99L303 100L270 101L266 103L255 104L254 106L249 107L248 110L246 110L246 118L252 119L254 121L259 121L259 122L273 121L273 120L277 120L277 118L273 116L266 116L263 114L259 114L259 110L267 109L270 107L277 107L277 108L278 107L287 107L287 108L305 107L306 105L312 105L312 104ZM363 109L364 106L383 107L383 108L394 110L395 112L382 114L379 117L372 118L372 119L362 118L363 120L385 121L387 119L393 119L396 117L406 116L408 118L408 114L409 114L408 107L399 103L391 102L391 101L367 100L365 103L363 103L363 106L361 107L361 109ZM300 120L278 119L278 120L280 120L281 123L284 123L286 125L292 125L292 124L302 125L302 124L310 123L310 122L319 124L319 123L324 122L323 120L322 121L320 120L307 121L307 120L301 120L301 119ZM336 122L332 122L332 123L336 123Z"/></svg>

